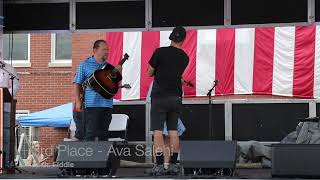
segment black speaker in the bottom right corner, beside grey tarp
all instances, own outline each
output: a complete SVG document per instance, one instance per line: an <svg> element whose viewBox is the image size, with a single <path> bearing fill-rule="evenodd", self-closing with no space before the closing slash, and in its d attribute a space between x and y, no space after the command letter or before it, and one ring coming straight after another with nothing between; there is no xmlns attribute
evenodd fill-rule
<svg viewBox="0 0 320 180"><path fill-rule="evenodd" d="M319 144L272 145L273 177L320 177Z"/></svg>

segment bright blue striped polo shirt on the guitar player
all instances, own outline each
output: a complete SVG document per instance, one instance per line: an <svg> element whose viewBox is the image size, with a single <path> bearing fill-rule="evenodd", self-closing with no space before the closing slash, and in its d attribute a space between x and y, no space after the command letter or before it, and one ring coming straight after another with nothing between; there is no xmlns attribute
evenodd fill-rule
<svg viewBox="0 0 320 180"><path fill-rule="evenodd" d="M101 64L97 63L97 61L93 58L93 56L89 57L87 60L83 61L78 69L76 76L74 77L73 83L77 83L82 85L83 82L88 79L91 74L94 73L95 70L101 69L106 62L102 62ZM106 99L102 97L99 93L91 89L90 87L86 88L85 91L85 107L108 107L112 108L113 99Z"/></svg>

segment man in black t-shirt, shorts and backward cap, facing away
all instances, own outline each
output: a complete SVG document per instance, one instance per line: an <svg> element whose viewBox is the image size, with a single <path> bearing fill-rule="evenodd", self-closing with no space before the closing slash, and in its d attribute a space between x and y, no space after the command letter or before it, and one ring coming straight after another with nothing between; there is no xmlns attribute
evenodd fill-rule
<svg viewBox="0 0 320 180"><path fill-rule="evenodd" d="M154 76L151 91L151 130L154 135L156 165L151 170L152 175L177 175L180 167L177 165L179 153L179 137L177 122L182 106L182 74L189 63L188 55L181 49L186 38L186 30L176 27L170 34L171 45L155 50L150 61L148 75ZM164 170L164 140L163 126L167 123L170 137L170 161L167 171Z"/></svg>

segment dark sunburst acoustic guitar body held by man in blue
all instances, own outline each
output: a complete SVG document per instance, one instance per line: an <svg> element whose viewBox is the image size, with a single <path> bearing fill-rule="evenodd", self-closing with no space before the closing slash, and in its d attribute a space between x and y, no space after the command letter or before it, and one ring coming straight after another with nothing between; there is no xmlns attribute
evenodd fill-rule
<svg viewBox="0 0 320 180"><path fill-rule="evenodd" d="M106 99L117 94L119 82L122 80L121 73L111 73L113 70L114 66L107 64L103 69L96 70L88 79L89 86Z"/></svg>

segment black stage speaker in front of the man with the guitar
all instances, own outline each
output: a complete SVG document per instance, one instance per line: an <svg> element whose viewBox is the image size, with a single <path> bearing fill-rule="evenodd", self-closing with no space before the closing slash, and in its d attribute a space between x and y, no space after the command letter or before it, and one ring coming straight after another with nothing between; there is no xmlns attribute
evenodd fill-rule
<svg viewBox="0 0 320 180"><path fill-rule="evenodd" d="M81 169L103 170L100 174L114 175L120 165L115 146L108 141L64 141L58 146L57 165L77 174ZM102 173L103 172L103 173ZM81 171L91 173L91 171Z"/></svg>

